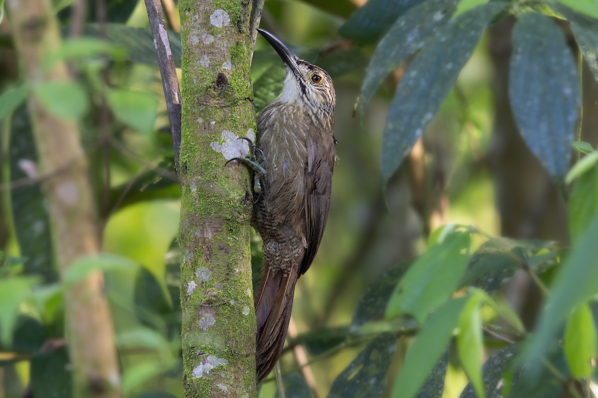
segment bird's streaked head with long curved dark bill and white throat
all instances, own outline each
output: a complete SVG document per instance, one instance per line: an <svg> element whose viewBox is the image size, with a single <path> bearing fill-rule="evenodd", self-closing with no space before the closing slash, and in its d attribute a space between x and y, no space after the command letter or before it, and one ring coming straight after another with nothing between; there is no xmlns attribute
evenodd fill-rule
<svg viewBox="0 0 598 398"><path fill-rule="evenodd" d="M297 57L279 38L258 29L285 63L286 75L279 101L303 101L309 107L332 112L336 97L332 78L324 69Z"/></svg>

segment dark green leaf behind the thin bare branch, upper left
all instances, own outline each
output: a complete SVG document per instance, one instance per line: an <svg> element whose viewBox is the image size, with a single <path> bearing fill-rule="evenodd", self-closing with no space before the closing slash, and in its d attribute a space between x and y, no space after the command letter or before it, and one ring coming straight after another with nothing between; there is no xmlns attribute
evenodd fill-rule
<svg viewBox="0 0 598 398"><path fill-rule="evenodd" d="M176 67L181 67L181 35L168 30L170 50ZM85 33L90 36L99 35L97 24L86 26ZM151 30L145 27L131 27L121 23L106 24L106 40L119 45L127 51L128 59L135 63L158 66L155 55L154 37Z"/></svg>

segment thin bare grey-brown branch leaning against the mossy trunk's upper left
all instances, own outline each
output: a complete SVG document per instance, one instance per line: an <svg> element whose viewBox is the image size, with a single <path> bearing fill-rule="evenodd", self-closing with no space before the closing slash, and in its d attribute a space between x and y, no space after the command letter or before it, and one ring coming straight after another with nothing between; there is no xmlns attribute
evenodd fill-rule
<svg viewBox="0 0 598 398"><path fill-rule="evenodd" d="M172 58L166 21L162 13L160 0L145 0L148 12L149 27L154 36L155 53L158 56L158 66L162 77L164 99L170 119L170 134L172 135L172 148L175 152L176 172L179 173L179 154L181 152L181 90L176 76L175 60Z"/></svg>

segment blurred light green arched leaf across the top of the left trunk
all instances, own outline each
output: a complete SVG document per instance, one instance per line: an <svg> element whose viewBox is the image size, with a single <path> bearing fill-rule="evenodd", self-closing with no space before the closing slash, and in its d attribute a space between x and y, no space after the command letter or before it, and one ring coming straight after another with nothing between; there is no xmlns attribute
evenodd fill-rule
<svg viewBox="0 0 598 398"><path fill-rule="evenodd" d="M70 61L97 55L109 55L114 60L120 61L127 58L127 52L118 45L89 36L81 36L63 41L58 50L45 61L45 67L50 69L57 61L61 60Z"/></svg>

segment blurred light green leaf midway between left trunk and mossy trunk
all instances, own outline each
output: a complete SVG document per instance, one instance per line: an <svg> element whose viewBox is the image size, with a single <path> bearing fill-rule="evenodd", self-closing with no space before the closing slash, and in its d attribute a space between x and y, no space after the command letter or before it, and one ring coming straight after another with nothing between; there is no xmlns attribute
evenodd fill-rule
<svg viewBox="0 0 598 398"><path fill-rule="evenodd" d="M154 131L158 114L158 101L153 95L119 89L106 91L108 106L114 116L138 132L149 134Z"/></svg>

